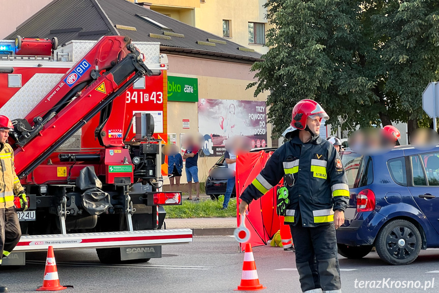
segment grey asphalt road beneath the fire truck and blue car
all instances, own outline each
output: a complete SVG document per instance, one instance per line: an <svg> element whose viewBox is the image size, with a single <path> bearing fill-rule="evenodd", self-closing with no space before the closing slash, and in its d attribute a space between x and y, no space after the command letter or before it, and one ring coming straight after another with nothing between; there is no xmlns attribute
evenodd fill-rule
<svg viewBox="0 0 439 293"><path fill-rule="evenodd" d="M301 292L293 252L265 246L254 248L253 253L259 280L267 287L262 292ZM239 285L244 254L238 253L232 237L200 236L189 245L165 246L163 258L142 264L102 265L90 249L55 251L55 257L61 283L74 286L65 292L218 293L232 292ZM28 264L19 270L0 271L0 282L10 292L34 291L42 285L46 254L28 253L26 258ZM439 292L439 250L422 251L414 263L399 267L385 264L375 252L361 260L339 259L346 293ZM359 287L360 281L369 281L367 288ZM375 288L370 288L371 281ZM403 288L403 281L413 281L419 288ZM425 288L428 282L430 288Z"/></svg>

